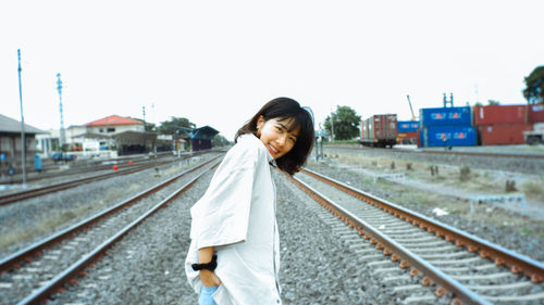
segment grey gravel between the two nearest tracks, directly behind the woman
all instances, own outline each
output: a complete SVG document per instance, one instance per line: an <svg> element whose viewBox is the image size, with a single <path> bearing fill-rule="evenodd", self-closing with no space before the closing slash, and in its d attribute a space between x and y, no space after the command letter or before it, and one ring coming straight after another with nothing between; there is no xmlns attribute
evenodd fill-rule
<svg viewBox="0 0 544 305"><path fill-rule="evenodd" d="M127 234L87 269L77 285L48 304L196 304L184 271L189 207L211 179L205 175L176 201ZM379 278L361 269L354 250L317 217L317 203L275 173L284 304L395 304Z"/></svg>

